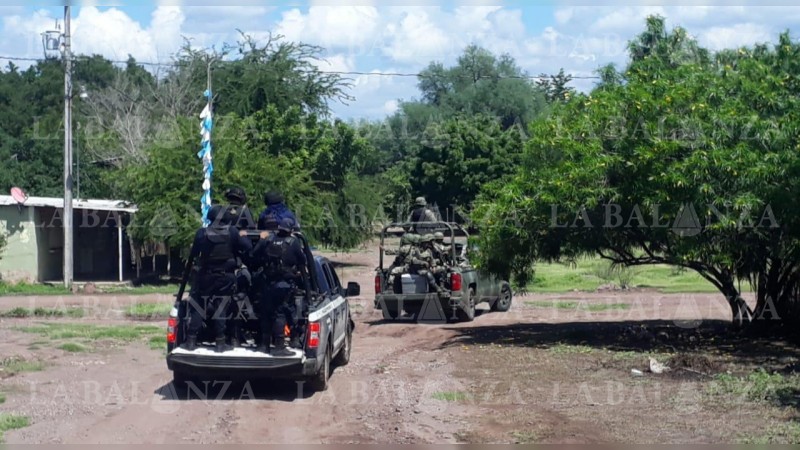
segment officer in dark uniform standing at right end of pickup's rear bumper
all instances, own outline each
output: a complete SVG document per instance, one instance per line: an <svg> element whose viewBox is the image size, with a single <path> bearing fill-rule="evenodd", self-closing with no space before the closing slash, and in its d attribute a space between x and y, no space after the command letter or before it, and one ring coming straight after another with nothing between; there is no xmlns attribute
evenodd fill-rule
<svg viewBox="0 0 800 450"><path fill-rule="evenodd" d="M285 339L287 325L293 331L293 338L296 338L295 315L298 311L293 294L298 286L302 286L306 291L309 290L306 255L300 239L292 236L294 225L291 218L284 218L278 224L277 233L271 238L266 238L266 233L262 233L264 239L253 250L255 257L262 261L267 281L266 301L262 302L260 308L262 340L257 350L267 351L268 336L271 331L275 346L272 352L274 356L293 355L286 348ZM270 313L274 314L272 320L269 319ZM295 342L293 344L297 345Z"/></svg>

